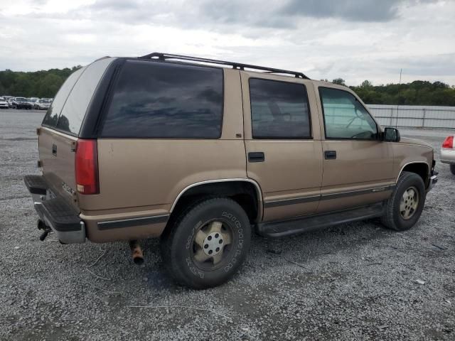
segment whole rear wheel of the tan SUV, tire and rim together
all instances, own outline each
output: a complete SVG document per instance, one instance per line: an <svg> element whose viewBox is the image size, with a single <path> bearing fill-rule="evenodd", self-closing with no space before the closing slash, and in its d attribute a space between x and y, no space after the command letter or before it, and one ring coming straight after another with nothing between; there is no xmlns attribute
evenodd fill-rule
<svg viewBox="0 0 455 341"><path fill-rule="evenodd" d="M235 274L250 249L251 227L234 200L215 197L182 212L164 235L166 268L190 288L218 286Z"/></svg>

